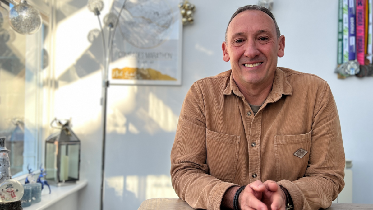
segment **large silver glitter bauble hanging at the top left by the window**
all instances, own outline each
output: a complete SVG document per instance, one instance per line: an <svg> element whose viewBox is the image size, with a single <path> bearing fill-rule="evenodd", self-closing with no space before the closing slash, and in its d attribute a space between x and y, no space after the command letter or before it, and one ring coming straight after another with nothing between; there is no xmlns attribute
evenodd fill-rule
<svg viewBox="0 0 373 210"><path fill-rule="evenodd" d="M26 1L21 1L10 10L9 23L20 34L33 34L41 27L41 15Z"/></svg>

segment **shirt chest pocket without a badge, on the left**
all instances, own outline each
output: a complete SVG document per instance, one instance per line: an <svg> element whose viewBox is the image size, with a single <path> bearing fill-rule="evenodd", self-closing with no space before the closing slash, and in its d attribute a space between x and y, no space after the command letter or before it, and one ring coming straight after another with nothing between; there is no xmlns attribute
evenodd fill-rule
<svg viewBox="0 0 373 210"><path fill-rule="evenodd" d="M210 175L232 182L237 167L239 136L206 129L206 164Z"/></svg>

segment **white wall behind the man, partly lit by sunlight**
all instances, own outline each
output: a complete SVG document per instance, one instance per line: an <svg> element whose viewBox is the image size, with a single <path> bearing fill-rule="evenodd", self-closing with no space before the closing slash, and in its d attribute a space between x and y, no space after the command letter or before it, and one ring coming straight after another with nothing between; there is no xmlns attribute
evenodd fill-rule
<svg viewBox="0 0 373 210"><path fill-rule="evenodd" d="M60 0L59 0L60 1ZM182 86L111 86L108 104L105 208L135 210L145 198L175 196L170 185L170 150L185 94L203 77L230 69L222 60L226 24L239 6L256 0L191 0L195 23L184 27ZM82 140L79 209L99 209L101 43L88 43L97 28L87 0L61 0L56 34L55 114L73 118ZM105 1L105 11L108 0ZM317 74L330 84L339 110L346 158L353 160L354 203L373 203L373 159L370 105L373 78L338 80L336 66L338 0L275 0L273 13L286 37L279 66ZM103 11L103 14L106 12ZM95 60L98 60L96 62ZM155 118L156 107L169 120Z"/></svg>

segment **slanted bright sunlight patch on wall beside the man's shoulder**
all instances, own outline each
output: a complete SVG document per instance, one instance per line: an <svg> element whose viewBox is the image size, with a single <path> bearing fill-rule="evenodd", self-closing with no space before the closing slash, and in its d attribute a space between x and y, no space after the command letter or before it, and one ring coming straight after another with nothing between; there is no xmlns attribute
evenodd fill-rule
<svg viewBox="0 0 373 210"><path fill-rule="evenodd" d="M153 93L149 93L149 116L166 132L175 132L179 117Z"/></svg>

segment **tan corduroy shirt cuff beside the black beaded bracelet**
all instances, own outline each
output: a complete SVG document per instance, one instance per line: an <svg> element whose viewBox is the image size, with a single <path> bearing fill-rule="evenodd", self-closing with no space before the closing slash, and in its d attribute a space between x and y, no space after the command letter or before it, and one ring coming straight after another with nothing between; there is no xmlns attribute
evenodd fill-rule
<svg viewBox="0 0 373 210"><path fill-rule="evenodd" d="M223 195L231 186L239 186L234 183L220 182L211 189L209 196L209 209L220 210L222 204Z"/></svg>

